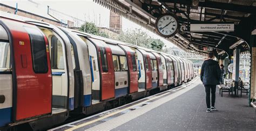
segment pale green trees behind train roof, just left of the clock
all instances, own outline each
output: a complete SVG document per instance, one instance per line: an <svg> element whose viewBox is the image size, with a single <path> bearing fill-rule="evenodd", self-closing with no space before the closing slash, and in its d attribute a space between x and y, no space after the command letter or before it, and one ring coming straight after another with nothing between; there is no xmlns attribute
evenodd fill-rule
<svg viewBox="0 0 256 131"><path fill-rule="evenodd" d="M160 51L164 46L164 42L162 42L160 39L149 37L146 32L139 29L121 32L117 39L125 43L130 43L157 51Z"/></svg>

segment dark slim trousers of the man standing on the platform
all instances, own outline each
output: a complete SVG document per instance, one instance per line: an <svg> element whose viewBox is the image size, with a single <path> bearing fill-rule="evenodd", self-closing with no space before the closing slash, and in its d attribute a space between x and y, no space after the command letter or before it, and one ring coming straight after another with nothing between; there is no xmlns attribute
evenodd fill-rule
<svg viewBox="0 0 256 131"><path fill-rule="evenodd" d="M205 85L205 93L206 93L206 105L207 108L211 108L211 94L212 94L212 106L215 104L215 93L216 93L216 85Z"/></svg>

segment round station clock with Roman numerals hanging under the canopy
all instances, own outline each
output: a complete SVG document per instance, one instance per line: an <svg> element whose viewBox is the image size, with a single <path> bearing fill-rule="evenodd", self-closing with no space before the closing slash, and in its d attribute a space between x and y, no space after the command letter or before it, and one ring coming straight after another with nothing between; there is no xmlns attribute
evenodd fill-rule
<svg viewBox="0 0 256 131"><path fill-rule="evenodd" d="M178 21L172 15L163 15L157 18L156 31L160 36L171 37L178 31Z"/></svg>

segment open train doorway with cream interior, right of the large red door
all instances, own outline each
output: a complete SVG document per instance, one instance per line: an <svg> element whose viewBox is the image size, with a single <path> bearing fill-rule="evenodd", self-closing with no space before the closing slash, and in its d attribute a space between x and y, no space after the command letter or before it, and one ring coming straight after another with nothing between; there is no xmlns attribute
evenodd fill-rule
<svg viewBox="0 0 256 131"><path fill-rule="evenodd" d="M74 108L74 52L68 37L57 27L38 26L49 40L52 72L52 112Z"/></svg>

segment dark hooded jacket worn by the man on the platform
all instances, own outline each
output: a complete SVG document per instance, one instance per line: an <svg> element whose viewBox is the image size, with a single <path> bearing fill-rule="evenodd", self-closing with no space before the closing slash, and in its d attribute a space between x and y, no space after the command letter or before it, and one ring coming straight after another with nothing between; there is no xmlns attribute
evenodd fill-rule
<svg viewBox="0 0 256 131"><path fill-rule="evenodd" d="M219 85L220 66L218 62L212 59L205 60L201 67L200 78L204 85Z"/></svg>

